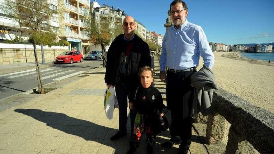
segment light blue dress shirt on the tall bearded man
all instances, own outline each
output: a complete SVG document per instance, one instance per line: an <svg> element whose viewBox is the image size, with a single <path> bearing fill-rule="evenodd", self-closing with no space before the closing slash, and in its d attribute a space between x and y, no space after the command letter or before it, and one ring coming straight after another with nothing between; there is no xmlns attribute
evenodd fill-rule
<svg viewBox="0 0 274 154"><path fill-rule="evenodd" d="M197 67L201 57L204 65L213 68L214 55L201 26L186 21L179 29L170 27L164 36L160 68L187 69Z"/></svg>

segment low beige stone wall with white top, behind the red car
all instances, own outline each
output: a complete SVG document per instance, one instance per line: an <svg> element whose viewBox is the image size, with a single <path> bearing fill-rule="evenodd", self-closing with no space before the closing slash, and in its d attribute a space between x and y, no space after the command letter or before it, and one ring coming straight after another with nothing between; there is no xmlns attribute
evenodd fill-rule
<svg viewBox="0 0 274 154"><path fill-rule="evenodd" d="M45 62L52 62L56 56L64 51L68 51L65 46L44 46ZM36 46L37 57L39 63L42 62L41 46ZM2 44L0 43L0 65L13 63L35 62L33 45L31 44Z"/></svg>

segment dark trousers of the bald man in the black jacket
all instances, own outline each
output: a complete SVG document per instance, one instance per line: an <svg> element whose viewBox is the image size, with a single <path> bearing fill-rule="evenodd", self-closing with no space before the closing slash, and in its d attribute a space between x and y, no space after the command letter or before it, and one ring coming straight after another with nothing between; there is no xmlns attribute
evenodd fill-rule
<svg viewBox="0 0 274 154"><path fill-rule="evenodd" d="M116 97L119 104L119 131L122 133L126 133L126 124L127 124L127 97L128 97L128 87L127 83L120 82L119 86L115 87ZM130 112L130 125L131 125L131 133L133 132L135 114Z"/></svg>

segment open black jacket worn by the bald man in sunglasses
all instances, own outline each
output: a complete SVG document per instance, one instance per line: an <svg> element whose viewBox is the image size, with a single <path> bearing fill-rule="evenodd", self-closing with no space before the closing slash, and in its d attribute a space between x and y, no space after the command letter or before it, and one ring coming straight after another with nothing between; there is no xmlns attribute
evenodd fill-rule
<svg viewBox="0 0 274 154"><path fill-rule="evenodd" d="M133 46L130 52L128 62L127 83L130 94L139 86L139 68L143 66L151 66L151 57L149 46L137 35L134 36ZM124 34L117 36L111 43L107 52L106 61L106 84L119 86L122 64L125 62L126 40ZM133 100L133 96L129 94L129 101Z"/></svg>

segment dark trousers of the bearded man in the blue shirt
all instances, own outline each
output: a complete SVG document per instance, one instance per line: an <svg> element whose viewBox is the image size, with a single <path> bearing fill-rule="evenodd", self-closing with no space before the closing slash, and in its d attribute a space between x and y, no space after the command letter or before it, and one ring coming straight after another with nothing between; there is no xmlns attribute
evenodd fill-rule
<svg viewBox="0 0 274 154"><path fill-rule="evenodd" d="M194 71L196 72L196 71ZM171 110L169 131L173 142L180 142L180 149L188 150L191 144L191 117L189 116L194 88L190 76L193 71L167 72L167 106ZM176 136L180 136L180 139Z"/></svg>

